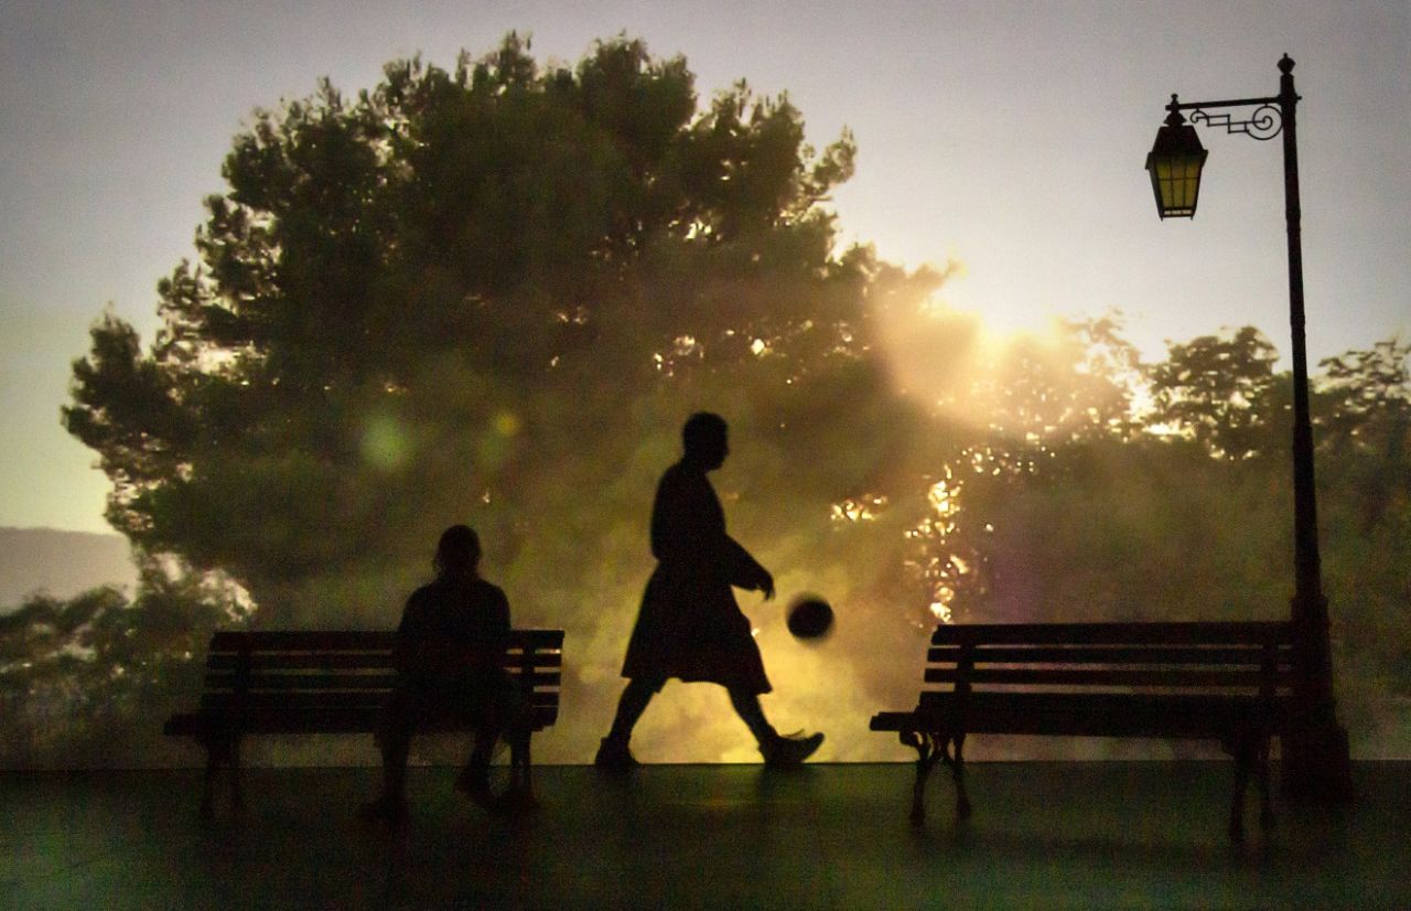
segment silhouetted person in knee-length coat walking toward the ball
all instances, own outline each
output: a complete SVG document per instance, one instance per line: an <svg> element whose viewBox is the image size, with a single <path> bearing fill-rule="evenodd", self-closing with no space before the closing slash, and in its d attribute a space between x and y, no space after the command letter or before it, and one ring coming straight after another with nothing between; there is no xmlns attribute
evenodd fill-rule
<svg viewBox="0 0 1411 911"><path fill-rule="evenodd" d="M632 727L670 677L724 686L765 761L799 764L818 749L823 734L783 737L765 719L759 693L772 688L749 620L731 592L731 586L759 590L769 600L775 580L725 534L725 513L706 477L729 455L725 421L715 414L694 414L682 436L686 452L666 469L652 506L652 555L658 565L642 595L622 662L628 685L595 764L618 770L636 766L628 749Z"/></svg>

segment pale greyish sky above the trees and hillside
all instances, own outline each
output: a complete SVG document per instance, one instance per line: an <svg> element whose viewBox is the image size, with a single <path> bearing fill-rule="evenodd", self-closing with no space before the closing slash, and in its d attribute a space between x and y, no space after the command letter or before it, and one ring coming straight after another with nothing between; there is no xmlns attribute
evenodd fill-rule
<svg viewBox="0 0 1411 911"><path fill-rule="evenodd" d="M842 239L916 267L996 332L1120 309L1150 359L1254 325L1288 350L1280 143L1202 129L1194 220L1143 161L1173 92L1271 96L1288 54L1311 366L1411 336L1411 1L75 3L0 6L0 525L102 531L107 484L59 424L106 306L150 342L155 284L257 107L452 66L511 30L540 62L597 38L684 55L701 100L787 92L809 140L848 127Z"/></svg>

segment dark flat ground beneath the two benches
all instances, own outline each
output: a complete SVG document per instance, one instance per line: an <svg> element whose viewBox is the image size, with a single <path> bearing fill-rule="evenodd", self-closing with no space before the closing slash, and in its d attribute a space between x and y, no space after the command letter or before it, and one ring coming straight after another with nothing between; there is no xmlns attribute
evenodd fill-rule
<svg viewBox="0 0 1411 911"><path fill-rule="evenodd" d="M992 763L907 823L909 766L538 770L542 806L487 816L452 770L412 778L399 833L361 823L375 771L253 770L196 812L199 773L0 774L0 908L1408 908L1411 764L1359 799L1280 804L1225 838L1223 763Z"/></svg>

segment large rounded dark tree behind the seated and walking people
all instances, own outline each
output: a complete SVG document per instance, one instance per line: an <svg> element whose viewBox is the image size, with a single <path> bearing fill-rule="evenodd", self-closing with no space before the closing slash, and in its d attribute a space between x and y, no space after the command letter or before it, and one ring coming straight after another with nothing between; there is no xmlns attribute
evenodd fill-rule
<svg viewBox="0 0 1411 911"><path fill-rule="evenodd" d="M395 565L447 517L516 540L511 514L601 490L721 374L879 394L869 257L820 205L852 158L787 97L698 106L638 41L323 82L236 138L155 345L104 318L66 424L117 528L298 619L289 586Z"/></svg>

